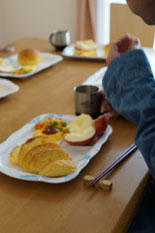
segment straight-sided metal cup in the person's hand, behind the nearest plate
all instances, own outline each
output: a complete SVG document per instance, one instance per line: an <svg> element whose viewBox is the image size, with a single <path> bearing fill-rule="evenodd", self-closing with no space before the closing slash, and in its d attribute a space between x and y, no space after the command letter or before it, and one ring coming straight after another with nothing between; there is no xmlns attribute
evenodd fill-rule
<svg viewBox="0 0 155 233"><path fill-rule="evenodd" d="M93 118L100 115L102 95L100 89L93 85L81 85L74 88L75 113L90 114Z"/></svg>

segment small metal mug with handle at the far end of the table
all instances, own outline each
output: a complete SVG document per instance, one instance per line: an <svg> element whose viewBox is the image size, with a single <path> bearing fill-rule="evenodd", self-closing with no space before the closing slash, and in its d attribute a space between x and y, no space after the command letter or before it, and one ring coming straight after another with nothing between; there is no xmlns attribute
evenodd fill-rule
<svg viewBox="0 0 155 233"><path fill-rule="evenodd" d="M49 36L49 41L56 48L56 50L61 51L70 44L70 32L54 31Z"/></svg>

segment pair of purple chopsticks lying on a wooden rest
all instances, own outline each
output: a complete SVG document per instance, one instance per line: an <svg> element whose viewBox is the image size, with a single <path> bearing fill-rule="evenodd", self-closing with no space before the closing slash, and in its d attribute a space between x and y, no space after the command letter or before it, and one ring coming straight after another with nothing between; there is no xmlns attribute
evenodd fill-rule
<svg viewBox="0 0 155 233"><path fill-rule="evenodd" d="M112 162L105 170L103 170L95 179L93 179L88 187L92 187L96 184L103 176L107 175L116 165L118 165L123 159L125 159L131 152L137 149L135 144L130 145L116 160Z"/></svg>

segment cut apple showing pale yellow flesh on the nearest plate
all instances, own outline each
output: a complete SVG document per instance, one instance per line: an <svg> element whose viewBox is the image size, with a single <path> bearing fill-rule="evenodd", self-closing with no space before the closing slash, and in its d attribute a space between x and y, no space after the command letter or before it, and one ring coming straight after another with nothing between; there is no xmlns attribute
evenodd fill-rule
<svg viewBox="0 0 155 233"><path fill-rule="evenodd" d="M94 121L88 114L81 114L67 126L69 133L64 140L71 145L84 146L93 142L96 137Z"/></svg>

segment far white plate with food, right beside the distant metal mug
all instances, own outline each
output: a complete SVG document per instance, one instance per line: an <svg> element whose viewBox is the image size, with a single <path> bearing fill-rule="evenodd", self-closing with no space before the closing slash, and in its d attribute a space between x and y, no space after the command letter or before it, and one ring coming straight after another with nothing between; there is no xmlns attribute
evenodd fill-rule
<svg viewBox="0 0 155 233"><path fill-rule="evenodd" d="M76 58L76 59L90 59L90 60L101 60L101 61L105 61L106 56L104 54L104 50L103 50L104 46L103 45L98 45L97 48L97 56L84 56L84 55L74 55L75 52L75 45L70 45L67 46L63 52L62 55L64 57L68 57L68 58Z"/></svg>

